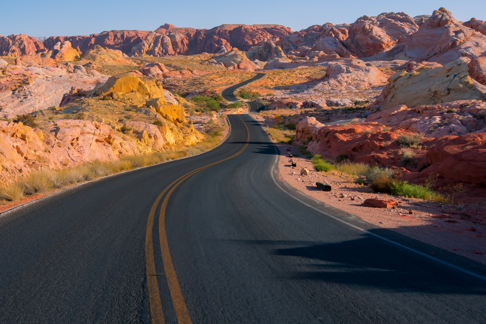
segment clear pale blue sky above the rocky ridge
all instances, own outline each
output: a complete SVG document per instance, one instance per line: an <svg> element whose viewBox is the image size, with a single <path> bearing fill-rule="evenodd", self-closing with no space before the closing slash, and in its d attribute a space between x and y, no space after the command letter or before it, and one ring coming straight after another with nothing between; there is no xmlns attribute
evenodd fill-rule
<svg viewBox="0 0 486 324"><path fill-rule="evenodd" d="M326 22L351 23L363 15L382 12L430 15L439 7L445 7L459 20L486 20L486 0L24 0L3 1L0 34L87 35L115 29L155 30L166 22L207 29L221 24L280 24L298 31Z"/></svg>

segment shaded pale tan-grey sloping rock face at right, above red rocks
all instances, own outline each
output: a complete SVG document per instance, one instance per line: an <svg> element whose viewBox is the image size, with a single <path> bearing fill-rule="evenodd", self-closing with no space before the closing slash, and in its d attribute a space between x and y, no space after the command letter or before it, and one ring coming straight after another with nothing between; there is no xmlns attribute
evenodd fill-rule
<svg viewBox="0 0 486 324"><path fill-rule="evenodd" d="M386 110L405 104L408 107L433 105L457 100L486 100L469 76L468 58L444 67L421 67L412 72L397 72L370 107Z"/></svg>

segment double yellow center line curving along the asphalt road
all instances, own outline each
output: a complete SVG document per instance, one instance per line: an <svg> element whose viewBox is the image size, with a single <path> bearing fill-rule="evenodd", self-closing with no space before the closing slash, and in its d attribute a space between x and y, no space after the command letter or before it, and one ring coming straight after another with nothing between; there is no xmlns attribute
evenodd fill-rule
<svg viewBox="0 0 486 324"><path fill-rule="evenodd" d="M188 172L183 176L179 177L178 179L174 180L169 186L167 186L162 192L158 195L154 205L150 209L149 218L147 221L147 232L145 235L145 268L147 270L147 288L149 292L149 302L150 302L150 313L152 315L152 324L165 324L164 320L164 313L162 311L162 303L160 302L160 292L158 290L158 282L157 282L157 273L155 270L155 261L154 261L154 245L153 245L153 238L152 232L154 227L154 216L158 206L158 203L162 199L162 197L167 193L165 196L162 206L160 207L160 213L158 218L158 235L160 241L160 250L162 254L162 261L164 265L165 275L167 277L167 283L169 286L169 290L171 292L172 302L174 304L175 309L175 316L177 317L177 322L179 324L192 324L191 317L189 316L189 312L187 311L186 303L184 302L184 297L182 296L182 291L179 286L179 281L177 280L177 276L175 275L174 264L172 263L171 254L169 251L169 244L167 243L167 236L165 232L165 209L167 208L167 203L169 198L171 197L172 193L174 192L175 188L179 186L184 180L189 178L196 172L199 172L203 169L206 169L210 166L218 164L220 162L226 161L232 157L237 156L238 154L242 153L244 149L248 146L250 142L250 131L248 130L248 126L246 123L238 116L240 120L243 122L244 127L246 128L247 132L247 139L246 144L243 148L238 151L237 153L228 156L222 160L210 163L204 167L200 167L196 170Z"/></svg>

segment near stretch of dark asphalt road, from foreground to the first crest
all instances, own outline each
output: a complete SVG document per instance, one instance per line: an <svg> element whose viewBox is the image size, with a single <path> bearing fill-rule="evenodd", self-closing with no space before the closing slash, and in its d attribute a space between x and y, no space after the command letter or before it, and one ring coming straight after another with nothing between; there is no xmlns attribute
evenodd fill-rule
<svg viewBox="0 0 486 324"><path fill-rule="evenodd" d="M375 235L484 266L274 181L266 132L228 119L207 153L1 214L0 323L486 323L485 280Z"/></svg>

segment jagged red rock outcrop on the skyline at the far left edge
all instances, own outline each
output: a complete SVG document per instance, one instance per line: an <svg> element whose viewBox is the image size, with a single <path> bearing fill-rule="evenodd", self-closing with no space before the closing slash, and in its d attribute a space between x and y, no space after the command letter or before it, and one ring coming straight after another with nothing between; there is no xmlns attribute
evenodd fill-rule
<svg viewBox="0 0 486 324"><path fill-rule="evenodd" d="M0 56L34 55L46 50L42 42L26 34L0 35Z"/></svg>

